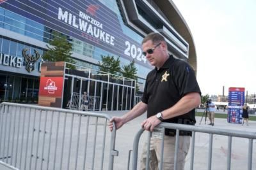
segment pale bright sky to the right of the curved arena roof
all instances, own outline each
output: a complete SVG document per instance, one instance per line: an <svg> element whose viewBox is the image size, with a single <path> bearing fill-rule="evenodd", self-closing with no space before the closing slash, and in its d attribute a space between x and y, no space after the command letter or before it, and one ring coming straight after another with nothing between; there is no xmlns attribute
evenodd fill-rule
<svg viewBox="0 0 256 170"><path fill-rule="evenodd" d="M173 0L186 20L197 55L202 95L228 87L256 94L256 1Z"/></svg>

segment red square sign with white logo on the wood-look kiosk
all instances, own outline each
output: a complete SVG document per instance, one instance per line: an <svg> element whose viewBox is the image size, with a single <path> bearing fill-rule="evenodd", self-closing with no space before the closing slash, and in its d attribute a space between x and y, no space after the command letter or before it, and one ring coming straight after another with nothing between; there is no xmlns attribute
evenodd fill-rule
<svg viewBox="0 0 256 170"><path fill-rule="evenodd" d="M63 77L41 77L39 96L61 97Z"/></svg>

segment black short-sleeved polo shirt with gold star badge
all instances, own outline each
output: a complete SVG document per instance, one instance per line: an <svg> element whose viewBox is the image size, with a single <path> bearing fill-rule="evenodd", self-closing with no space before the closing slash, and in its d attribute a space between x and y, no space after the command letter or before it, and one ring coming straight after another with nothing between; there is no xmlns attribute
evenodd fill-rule
<svg viewBox="0 0 256 170"><path fill-rule="evenodd" d="M172 107L189 92L201 94L195 71L187 62L175 59L173 55L170 55L159 70L155 68L147 75L141 99L148 105L147 117ZM187 118L195 122L195 109L179 117L164 120L164 122L177 123L178 118Z"/></svg>

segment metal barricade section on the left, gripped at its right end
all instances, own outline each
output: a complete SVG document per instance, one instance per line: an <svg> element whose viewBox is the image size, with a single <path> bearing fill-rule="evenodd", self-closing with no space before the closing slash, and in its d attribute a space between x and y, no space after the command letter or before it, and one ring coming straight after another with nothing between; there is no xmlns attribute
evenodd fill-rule
<svg viewBox="0 0 256 170"><path fill-rule="evenodd" d="M0 104L0 160L19 169L113 169L109 116L28 104Z"/></svg>

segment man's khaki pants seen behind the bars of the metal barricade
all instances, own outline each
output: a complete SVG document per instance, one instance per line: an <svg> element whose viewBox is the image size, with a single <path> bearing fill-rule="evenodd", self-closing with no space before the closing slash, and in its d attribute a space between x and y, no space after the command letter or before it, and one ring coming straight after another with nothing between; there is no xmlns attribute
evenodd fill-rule
<svg viewBox="0 0 256 170"><path fill-rule="evenodd" d="M179 152L177 160L177 169L184 170L186 155L188 154L191 136L179 136ZM164 157L163 169L174 169L174 153L175 153L175 136L164 136ZM158 170L161 159L161 139L151 138L150 141L150 170ZM141 155L140 169L146 169L147 161L147 142L143 146Z"/></svg>

